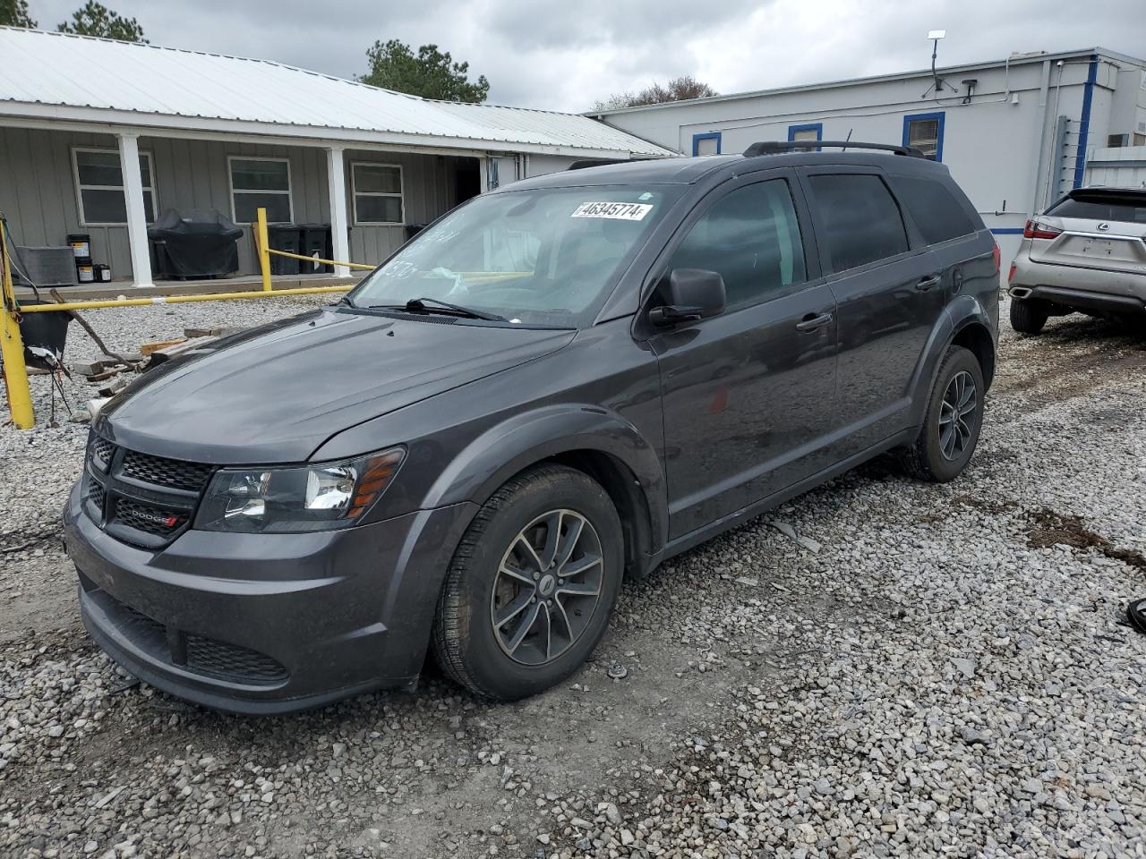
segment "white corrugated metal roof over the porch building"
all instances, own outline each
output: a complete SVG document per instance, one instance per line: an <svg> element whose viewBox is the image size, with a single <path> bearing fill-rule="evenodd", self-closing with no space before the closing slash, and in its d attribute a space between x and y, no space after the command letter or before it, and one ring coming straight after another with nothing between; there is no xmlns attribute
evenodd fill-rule
<svg viewBox="0 0 1146 859"><path fill-rule="evenodd" d="M675 155L583 116L430 101L266 60L5 26L0 57L0 117L347 143Z"/></svg>

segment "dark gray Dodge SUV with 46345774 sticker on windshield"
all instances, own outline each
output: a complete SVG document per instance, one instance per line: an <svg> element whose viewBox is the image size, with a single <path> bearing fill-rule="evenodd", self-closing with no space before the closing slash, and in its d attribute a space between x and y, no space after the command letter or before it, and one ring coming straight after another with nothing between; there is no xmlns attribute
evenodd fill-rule
<svg viewBox="0 0 1146 859"><path fill-rule="evenodd" d="M64 511L92 637L225 710L410 688L431 651L515 700L626 575L885 451L953 479L998 249L916 150L808 145L516 182L141 377Z"/></svg>

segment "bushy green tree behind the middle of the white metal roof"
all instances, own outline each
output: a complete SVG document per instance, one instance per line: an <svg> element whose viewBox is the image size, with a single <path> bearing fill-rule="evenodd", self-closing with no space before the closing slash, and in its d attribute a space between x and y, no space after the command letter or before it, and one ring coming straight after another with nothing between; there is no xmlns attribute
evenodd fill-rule
<svg viewBox="0 0 1146 859"><path fill-rule="evenodd" d="M363 84L423 98L471 104L480 104L489 95L485 74L479 74L477 82L471 84L470 64L455 63L449 53L442 54L437 45L423 45L415 56L410 46L398 39L385 45L376 41L366 56L370 71L359 78Z"/></svg>

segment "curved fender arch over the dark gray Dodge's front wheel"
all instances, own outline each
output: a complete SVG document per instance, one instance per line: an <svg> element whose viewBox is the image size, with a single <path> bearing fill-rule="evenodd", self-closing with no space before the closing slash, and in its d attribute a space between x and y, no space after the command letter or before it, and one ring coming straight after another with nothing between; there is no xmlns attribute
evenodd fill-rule
<svg viewBox="0 0 1146 859"><path fill-rule="evenodd" d="M548 405L489 427L453 458L422 506L484 504L507 480L534 463L579 450L607 454L631 472L649 510L653 549L662 546L668 538L668 515L660 457L630 421L599 405Z"/></svg>

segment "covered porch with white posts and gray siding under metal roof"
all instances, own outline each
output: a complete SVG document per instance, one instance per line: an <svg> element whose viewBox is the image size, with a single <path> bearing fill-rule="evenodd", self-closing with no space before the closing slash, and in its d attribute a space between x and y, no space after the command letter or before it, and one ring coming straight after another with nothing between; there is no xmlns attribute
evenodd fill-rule
<svg viewBox="0 0 1146 859"><path fill-rule="evenodd" d="M508 160L517 178L516 157L497 160ZM62 246L68 236L88 236L92 260L108 265L113 281L71 289L100 292L189 285L159 279L148 228L166 210L215 210L243 230L238 270L197 289L234 289L259 273L251 222L260 206L272 246L293 235L285 224L313 226L329 230L319 255L376 265L401 246L408 228L478 194L487 163L478 152L8 125L0 127L0 175L8 178L0 183L0 212L19 245ZM309 252L285 244L282 250ZM276 283L308 277L308 267L324 269L276 265ZM322 274L345 278L350 269Z"/></svg>

